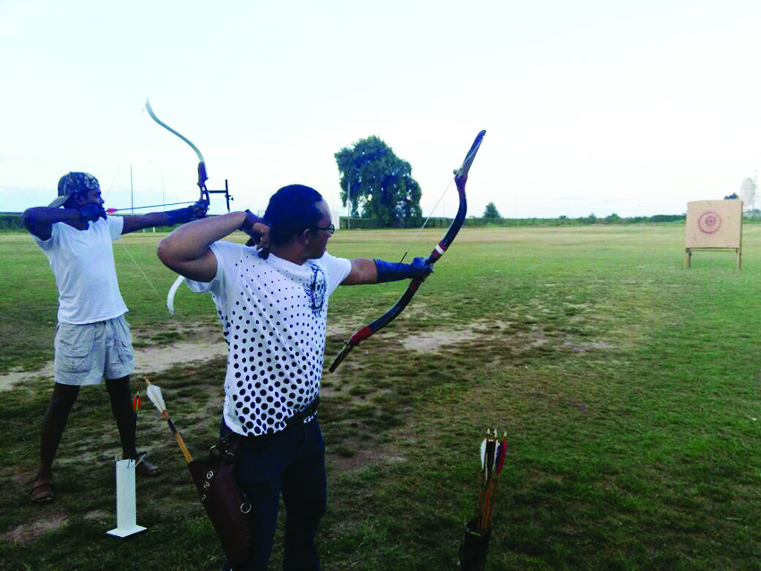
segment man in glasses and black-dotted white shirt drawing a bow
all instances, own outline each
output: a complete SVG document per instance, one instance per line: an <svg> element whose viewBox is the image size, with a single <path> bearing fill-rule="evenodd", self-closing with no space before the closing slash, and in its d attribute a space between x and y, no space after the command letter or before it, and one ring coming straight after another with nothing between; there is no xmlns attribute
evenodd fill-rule
<svg viewBox="0 0 761 571"><path fill-rule="evenodd" d="M236 230L249 244L222 239ZM325 446L317 421L328 299L338 285L425 277L432 268L327 252L328 204L292 184L251 212L181 226L158 257L209 292L227 340L224 431L239 440L235 481L252 504L251 551L240 569L267 569L282 492L286 569L319 569L314 535L327 504ZM256 247L254 247L256 246ZM225 568L229 568L226 566Z"/></svg>

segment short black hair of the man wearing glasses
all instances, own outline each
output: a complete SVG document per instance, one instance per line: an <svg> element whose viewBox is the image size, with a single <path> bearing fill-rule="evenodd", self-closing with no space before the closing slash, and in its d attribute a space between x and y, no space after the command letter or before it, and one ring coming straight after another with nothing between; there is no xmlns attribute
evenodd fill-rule
<svg viewBox="0 0 761 571"><path fill-rule="evenodd" d="M288 184L269 199L264 221L269 224L269 243L282 246L307 228L320 223L323 213L317 208L320 192L304 184Z"/></svg>

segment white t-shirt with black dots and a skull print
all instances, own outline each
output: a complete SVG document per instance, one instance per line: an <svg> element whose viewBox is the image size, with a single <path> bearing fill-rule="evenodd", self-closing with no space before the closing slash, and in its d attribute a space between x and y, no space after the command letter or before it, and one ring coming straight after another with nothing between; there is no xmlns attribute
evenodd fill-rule
<svg viewBox="0 0 761 571"><path fill-rule="evenodd" d="M188 280L210 292L227 341L224 417L238 434L285 428L320 392L328 297L351 262L325 253L299 266L270 254L261 260L237 243L211 245L217 276Z"/></svg>

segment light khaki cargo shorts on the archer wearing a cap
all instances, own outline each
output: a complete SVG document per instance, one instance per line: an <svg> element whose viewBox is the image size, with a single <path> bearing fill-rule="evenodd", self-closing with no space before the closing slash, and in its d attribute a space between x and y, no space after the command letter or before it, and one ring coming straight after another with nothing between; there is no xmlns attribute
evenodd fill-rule
<svg viewBox="0 0 761 571"><path fill-rule="evenodd" d="M86 325L56 328L56 383L98 385L121 379L134 369L133 337L124 315Z"/></svg>

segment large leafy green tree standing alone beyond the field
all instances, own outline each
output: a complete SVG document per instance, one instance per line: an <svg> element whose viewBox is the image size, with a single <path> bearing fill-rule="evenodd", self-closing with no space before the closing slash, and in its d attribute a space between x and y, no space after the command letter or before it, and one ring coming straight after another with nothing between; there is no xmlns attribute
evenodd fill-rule
<svg viewBox="0 0 761 571"><path fill-rule="evenodd" d="M334 157L341 174L341 203L351 200L351 215L377 218L383 226L419 226L420 184L412 166L372 135L344 147Z"/></svg>

